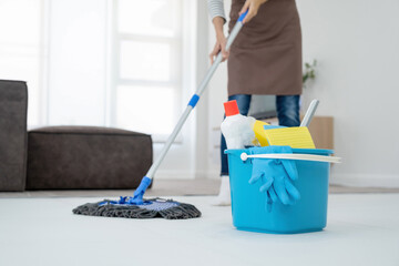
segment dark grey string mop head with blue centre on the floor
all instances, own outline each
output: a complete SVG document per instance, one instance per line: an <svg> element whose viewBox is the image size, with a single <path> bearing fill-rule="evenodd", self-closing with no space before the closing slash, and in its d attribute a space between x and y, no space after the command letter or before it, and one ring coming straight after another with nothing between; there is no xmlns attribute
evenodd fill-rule
<svg viewBox="0 0 399 266"><path fill-rule="evenodd" d="M130 197L122 197L120 201L104 200L98 203L86 203L78 206L74 214L122 218L156 218L187 219L201 216L201 212L191 204L178 203L172 200L150 198L143 204L131 204Z"/></svg>

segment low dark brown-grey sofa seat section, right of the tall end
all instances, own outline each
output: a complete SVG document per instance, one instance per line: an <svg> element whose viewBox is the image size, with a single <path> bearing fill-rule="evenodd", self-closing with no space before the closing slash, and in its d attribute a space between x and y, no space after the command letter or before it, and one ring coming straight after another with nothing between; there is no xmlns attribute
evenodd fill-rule
<svg viewBox="0 0 399 266"><path fill-rule="evenodd" d="M150 135L96 126L28 133L27 190L136 188L152 164Z"/></svg>

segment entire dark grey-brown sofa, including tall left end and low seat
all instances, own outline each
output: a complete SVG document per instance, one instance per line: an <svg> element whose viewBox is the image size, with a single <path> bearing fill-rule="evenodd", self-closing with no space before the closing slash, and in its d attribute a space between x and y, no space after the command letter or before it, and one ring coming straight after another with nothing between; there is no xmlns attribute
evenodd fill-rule
<svg viewBox="0 0 399 266"><path fill-rule="evenodd" d="M98 126L27 133L28 88L0 80L0 192L136 188L152 164L147 134Z"/></svg>

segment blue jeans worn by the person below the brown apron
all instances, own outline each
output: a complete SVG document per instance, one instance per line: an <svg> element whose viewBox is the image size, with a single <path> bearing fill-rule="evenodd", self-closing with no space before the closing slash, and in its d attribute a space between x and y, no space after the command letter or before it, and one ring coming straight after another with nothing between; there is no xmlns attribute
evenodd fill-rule
<svg viewBox="0 0 399 266"><path fill-rule="evenodd" d="M247 115L250 104L250 94L236 94L228 98L228 101L236 100L239 113ZM276 109L278 123L284 126L299 126L299 95L277 95ZM227 155L224 151L227 149L226 140L222 134L221 141L221 160L222 170L221 175L228 175Z"/></svg>

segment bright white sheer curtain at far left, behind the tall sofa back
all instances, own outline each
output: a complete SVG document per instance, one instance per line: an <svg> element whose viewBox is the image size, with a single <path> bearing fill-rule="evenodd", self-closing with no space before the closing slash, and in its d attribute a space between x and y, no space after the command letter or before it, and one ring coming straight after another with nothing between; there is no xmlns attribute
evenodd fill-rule
<svg viewBox="0 0 399 266"><path fill-rule="evenodd" d="M29 86L29 124L41 120L43 1L0 0L0 79Z"/></svg>

